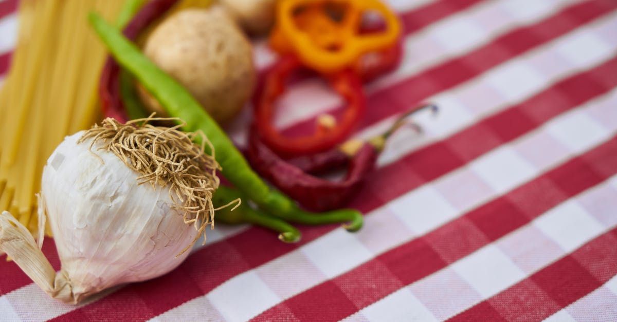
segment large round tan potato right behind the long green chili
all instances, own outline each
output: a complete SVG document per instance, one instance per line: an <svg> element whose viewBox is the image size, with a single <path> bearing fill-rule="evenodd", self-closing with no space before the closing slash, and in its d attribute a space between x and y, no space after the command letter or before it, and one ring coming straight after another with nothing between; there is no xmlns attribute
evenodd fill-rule
<svg viewBox="0 0 617 322"><path fill-rule="evenodd" d="M218 123L235 117L257 79L251 43L218 9L186 9L162 22L149 36L144 54L193 94ZM139 95L157 114L158 102L141 86Z"/></svg>

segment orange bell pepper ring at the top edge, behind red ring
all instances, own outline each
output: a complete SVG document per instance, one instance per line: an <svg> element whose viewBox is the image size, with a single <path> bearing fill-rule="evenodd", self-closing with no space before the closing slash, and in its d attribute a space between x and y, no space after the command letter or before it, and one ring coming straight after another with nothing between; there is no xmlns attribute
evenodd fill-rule
<svg viewBox="0 0 617 322"><path fill-rule="evenodd" d="M379 14L385 28L360 33L363 15L370 13ZM273 49L320 73L355 68L363 55L395 46L401 32L396 15L378 0L283 0L276 19Z"/></svg>

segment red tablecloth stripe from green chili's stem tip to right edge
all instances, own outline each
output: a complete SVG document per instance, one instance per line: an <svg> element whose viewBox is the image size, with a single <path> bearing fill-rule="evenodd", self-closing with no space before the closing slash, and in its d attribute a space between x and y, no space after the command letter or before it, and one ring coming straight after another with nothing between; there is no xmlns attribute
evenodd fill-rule
<svg viewBox="0 0 617 322"><path fill-rule="evenodd" d="M606 93L617 86L617 76L612 73L616 68L617 58L613 58L587 72L572 75L520 104L379 169L367 178L371 185L360 192L354 204L363 212L369 211L375 202L375 197L371 196L381 197L381 203L392 200L520 137L550 118ZM515 114L521 115L519 122L504 117ZM508 128L508 134L500 134L501 128ZM405 173L408 180L397 180L400 173Z"/></svg>

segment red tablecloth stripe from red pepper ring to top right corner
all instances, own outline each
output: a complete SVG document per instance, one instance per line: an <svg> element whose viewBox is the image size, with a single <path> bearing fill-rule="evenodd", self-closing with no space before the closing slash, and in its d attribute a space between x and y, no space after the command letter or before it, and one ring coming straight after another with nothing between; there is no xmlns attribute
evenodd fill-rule
<svg viewBox="0 0 617 322"><path fill-rule="evenodd" d="M558 14L541 22L518 28L499 36L465 56L452 59L407 78L399 83L379 89L368 97L366 115L360 128L370 126L384 118L409 109L427 99L487 70L502 64L511 57L547 43L550 39L564 35L582 23L597 19L617 7L617 1L586 1L567 7ZM342 108L331 114L340 118ZM284 133L297 136L315 129L315 118L310 118L286 129Z"/></svg>

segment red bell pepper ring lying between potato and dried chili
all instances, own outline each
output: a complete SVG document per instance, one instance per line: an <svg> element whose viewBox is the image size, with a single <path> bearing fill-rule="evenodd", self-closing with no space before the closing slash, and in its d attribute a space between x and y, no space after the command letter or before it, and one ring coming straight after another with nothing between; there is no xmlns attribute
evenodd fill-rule
<svg viewBox="0 0 617 322"><path fill-rule="evenodd" d="M281 155L313 154L336 146L354 131L366 109L362 83L356 73L346 70L326 75L330 86L347 101L341 122L335 126L318 125L315 133L307 136L284 136L272 123L276 110L275 101L286 90L286 78L300 67L302 65L296 57L281 57L265 75L263 88L255 99L256 131L265 144Z"/></svg>

